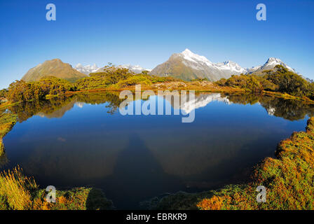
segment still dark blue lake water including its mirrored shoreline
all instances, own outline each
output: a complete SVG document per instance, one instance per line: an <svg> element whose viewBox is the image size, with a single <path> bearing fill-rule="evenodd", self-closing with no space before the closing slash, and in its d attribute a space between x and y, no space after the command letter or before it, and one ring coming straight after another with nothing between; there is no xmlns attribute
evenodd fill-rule
<svg viewBox="0 0 314 224"><path fill-rule="evenodd" d="M175 115L122 116L120 103L105 92L13 106L19 122L4 138L1 169L20 165L41 188L101 188L117 209L137 209L164 193L245 181L314 112L274 97L198 94L194 122L182 123Z"/></svg>

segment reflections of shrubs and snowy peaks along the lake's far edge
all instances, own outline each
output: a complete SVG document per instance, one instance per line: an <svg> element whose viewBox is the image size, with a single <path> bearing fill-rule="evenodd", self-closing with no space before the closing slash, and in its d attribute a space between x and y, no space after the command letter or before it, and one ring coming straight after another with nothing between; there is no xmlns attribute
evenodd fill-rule
<svg viewBox="0 0 314 224"><path fill-rule="evenodd" d="M166 97L163 98L168 100ZM270 116L287 120L301 120L306 116L314 115L313 104L265 95L203 93L196 94L194 100L189 100L188 98L183 105L174 104L173 97L170 99L173 109L182 109L186 113L202 108L211 102L223 102L224 104L261 104ZM123 99L119 99L118 92L100 92L77 94L71 97L53 98L46 101L25 102L11 106L10 110L18 114L18 121L22 123L35 115L46 118L62 118L64 113L71 110L74 105L82 108L84 104L107 103L107 113L113 114L117 111L121 102L123 102Z"/></svg>

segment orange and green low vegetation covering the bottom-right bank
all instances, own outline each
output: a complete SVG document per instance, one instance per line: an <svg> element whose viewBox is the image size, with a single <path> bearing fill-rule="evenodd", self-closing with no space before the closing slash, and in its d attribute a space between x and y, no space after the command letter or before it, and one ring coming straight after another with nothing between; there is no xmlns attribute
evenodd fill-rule
<svg viewBox="0 0 314 224"><path fill-rule="evenodd" d="M306 132L294 132L278 144L276 158L254 168L248 183L203 193L176 193L146 203L149 209L259 210L314 209L314 118ZM266 202L257 202L257 186Z"/></svg>

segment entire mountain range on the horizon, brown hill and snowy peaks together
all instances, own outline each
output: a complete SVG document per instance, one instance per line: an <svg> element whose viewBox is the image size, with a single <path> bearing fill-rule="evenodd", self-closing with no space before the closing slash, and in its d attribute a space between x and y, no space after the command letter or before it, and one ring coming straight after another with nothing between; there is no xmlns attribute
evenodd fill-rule
<svg viewBox="0 0 314 224"><path fill-rule="evenodd" d="M174 78L181 78L183 80L207 78L210 81L216 81L221 78L230 78L232 75L238 75L240 73L255 73L259 75L262 71L274 69L277 64L281 64L289 71L297 73L295 69L292 69L290 66L275 57L269 57L263 65L247 69L231 61L218 63L210 62L210 60L206 57L197 55L189 49L180 53L172 54L166 62L159 64L153 70L131 64L118 65L117 67L127 68L135 73L141 73L146 70L154 76L171 76ZM39 80L43 76L55 76L57 78L75 81L79 78L88 76L90 73L102 71L104 71L104 67L100 68L96 64L88 64L86 66L76 64L76 66L72 68L70 64L64 63L60 59L52 59L29 69L25 76L23 76L22 80L35 81ZM313 80L303 77L300 73L298 74L309 82L313 82Z"/></svg>

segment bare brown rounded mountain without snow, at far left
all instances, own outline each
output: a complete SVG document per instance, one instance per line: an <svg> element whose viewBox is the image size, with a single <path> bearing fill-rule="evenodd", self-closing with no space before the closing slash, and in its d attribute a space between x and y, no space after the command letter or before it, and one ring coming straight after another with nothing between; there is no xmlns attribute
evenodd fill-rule
<svg viewBox="0 0 314 224"><path fill-rule="evenodd" d="M60 59L51 59L29 69L25 76L22 77L22 80L26 82L37 81L44 76L54 76L74 82L75 80L86 77L86 74L73 69L71 64L64 63Z"/></svg>

